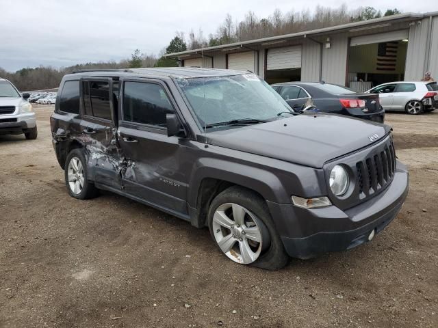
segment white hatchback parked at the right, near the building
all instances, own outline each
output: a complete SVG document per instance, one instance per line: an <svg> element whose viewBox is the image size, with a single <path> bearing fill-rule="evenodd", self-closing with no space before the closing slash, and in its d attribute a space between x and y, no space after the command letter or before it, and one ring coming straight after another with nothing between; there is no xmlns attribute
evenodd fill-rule
<svg viewBox="0 0 438 328"><path fill-rule="evenodd" d="M400 81L377 85L367 92L378 94L385 110L415 115L438 107L437 90L437 82Z"/></svg>

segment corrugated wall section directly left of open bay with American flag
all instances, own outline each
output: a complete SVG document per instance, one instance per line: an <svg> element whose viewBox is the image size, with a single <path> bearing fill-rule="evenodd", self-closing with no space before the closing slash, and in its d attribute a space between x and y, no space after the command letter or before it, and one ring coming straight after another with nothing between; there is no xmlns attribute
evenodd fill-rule
<svg viewBox="0 0 438 328"><path fill-rule="evenodd" d="M345 85L348 37L345 33L331 38L331 47L322 49L322 77L327 83Z"/></svg>

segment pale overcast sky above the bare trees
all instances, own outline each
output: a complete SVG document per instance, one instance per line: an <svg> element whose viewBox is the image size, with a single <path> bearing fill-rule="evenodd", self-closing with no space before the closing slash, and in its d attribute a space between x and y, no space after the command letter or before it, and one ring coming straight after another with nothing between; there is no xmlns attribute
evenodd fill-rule
<svg viewBox="0 0 438 328"><path fill-rule="evenodd" d="M339 0L0 0L0 67L55 67L87 61L118 61L134 49L159 53L175 31L214 33L227 13L241 20L248 10L268 17L282 12L313 10L321 3L337 8ZM434 4L435 3L435 4ZM349 0L348 8L370 5L383 12L438 10L438 1ZM434 8L435 7L435 8Z"/></svg>

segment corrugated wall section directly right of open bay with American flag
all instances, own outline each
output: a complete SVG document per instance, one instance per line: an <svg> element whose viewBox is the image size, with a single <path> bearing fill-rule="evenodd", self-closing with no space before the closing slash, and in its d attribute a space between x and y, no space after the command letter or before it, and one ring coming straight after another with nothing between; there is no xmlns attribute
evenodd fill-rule
<svg viewBox="0 0 438 328"><path fill-rule="evenodd" d="M414 23L409 28L409 42L406 57L404 80L420 80L424 74L426 59L427 25L428 18L421 20L421 24Z"/></svg>

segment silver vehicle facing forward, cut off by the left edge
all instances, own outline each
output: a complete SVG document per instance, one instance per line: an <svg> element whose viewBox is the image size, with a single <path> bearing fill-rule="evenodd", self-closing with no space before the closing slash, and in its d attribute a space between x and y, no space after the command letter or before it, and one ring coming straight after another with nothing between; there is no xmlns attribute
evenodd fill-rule
<svg viewBox="0 0 438 328"><path fill-rule="evenodd" d="M24 133L26 139L36 139L35 113L27 98L29 94L21 96L10 81L0 79L0 135Z"/></svg>

